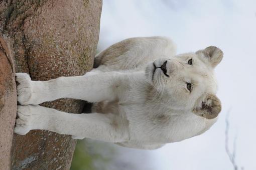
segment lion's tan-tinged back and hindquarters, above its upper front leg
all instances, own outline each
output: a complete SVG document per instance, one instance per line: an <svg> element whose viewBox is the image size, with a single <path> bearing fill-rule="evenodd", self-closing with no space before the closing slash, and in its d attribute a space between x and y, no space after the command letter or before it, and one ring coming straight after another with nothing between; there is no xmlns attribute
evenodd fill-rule
<svg viewBox="0 0 256 170"><path fill-rule="evenodd" d="M130 38L99 53L95 57L94 68L102 71L140 70L156 59L175 54L176 45L166 37Z"/></svg>

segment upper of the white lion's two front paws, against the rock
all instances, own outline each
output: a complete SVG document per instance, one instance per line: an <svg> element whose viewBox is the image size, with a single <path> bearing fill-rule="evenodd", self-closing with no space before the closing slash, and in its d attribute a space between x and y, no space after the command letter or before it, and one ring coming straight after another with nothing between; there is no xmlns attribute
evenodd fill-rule
<svg viewBox="0 0 256 170"><path fill-rule="evenodd" d="M28 105L32 97L31 78L27 73L16 73L18 102L22 105Z"/></svg>

